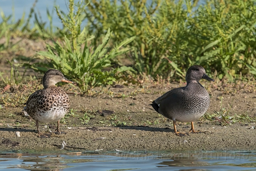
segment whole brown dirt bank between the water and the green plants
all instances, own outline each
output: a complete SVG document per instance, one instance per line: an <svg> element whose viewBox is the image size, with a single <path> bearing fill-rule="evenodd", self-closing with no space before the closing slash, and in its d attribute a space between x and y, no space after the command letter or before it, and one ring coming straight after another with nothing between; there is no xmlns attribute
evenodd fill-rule
<svg viewBox="0 0 256 171"><path fill-rule="evenodd" d="M22 105L5 107L0 110L0 149L56 151L60 147L53 144L61 145L65 140L68 146L87 150L255 150L254 92L241 91L232 95L208 87L211 106L195 124L196 130L205 133L178 137L173 133L172 121L148 106L167 89L178 86L180 84L176 83L160 88L120 86L108 89L125 94L125 98L109 98L106 92L94 96L69 94L71 111L61 120L61 130L67 134L51 134L51 138L47 139L38 138L34 120L21 113ZM225 109L221 110L221 105ZM227 115L226 122L220 117L221 111ZM55 125L41 124L40 130L54 131ZM177 128L181 132L188 132L190 123L179 123ZM20 137L15 135L16 131L20 132Z"/></svg>

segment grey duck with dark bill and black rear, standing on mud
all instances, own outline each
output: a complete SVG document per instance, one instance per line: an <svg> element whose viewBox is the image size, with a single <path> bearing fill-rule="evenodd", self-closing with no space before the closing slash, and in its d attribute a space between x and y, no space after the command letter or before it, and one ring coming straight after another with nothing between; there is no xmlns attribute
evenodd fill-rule
<svg viewBox="0 0 256 171"><path fill-rule="evenodd" d="M191 122L189 132L198 133L194 130L193 121L205 114L210 106L210 96L199 83L202 78L214 82L214 79L207 76L205 68L191 66L186 74L186 87L170 90L149 104L158 113L173 121L174 132L178 136L187 134L177 131L176 121Z"/></svg>

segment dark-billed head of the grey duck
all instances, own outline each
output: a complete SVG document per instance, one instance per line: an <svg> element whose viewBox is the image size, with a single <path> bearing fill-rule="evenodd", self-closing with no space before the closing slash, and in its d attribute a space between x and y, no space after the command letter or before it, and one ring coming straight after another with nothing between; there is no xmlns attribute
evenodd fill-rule
<svg viewBox="0 0 256 171"><path fill-rule="evenodd" d="M214 79L210 78L207 76L205 72L205 68L203 68L200 65L193 65L188 68L187 74L186 74L186 81L191 82L191 81L199 81L200 79L206 79L208 81L213 81Z"/></svg>

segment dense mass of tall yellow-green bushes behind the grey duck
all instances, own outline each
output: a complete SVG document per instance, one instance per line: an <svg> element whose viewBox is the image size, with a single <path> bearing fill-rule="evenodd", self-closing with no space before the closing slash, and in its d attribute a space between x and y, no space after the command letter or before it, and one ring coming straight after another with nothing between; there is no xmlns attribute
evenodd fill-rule
<svg viewBox="0 0 256 171"><path fill-rule="evenodd" d="M138 74L184 77L194 64L231 82L240 72L256 74L256 2L200 2L85 0L84 12L90 32L110 28L116 42L136 36L127 56Z"/></svg>

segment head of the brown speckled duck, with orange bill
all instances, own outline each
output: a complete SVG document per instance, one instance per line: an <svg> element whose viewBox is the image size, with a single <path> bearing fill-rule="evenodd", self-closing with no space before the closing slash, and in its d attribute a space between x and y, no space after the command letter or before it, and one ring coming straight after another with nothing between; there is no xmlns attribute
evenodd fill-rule
<svg viewBox="0 0 256 171"><path fill-rule="evenodd" d="M44 88L48 88L50 86L55 86L58 82L66 82L66 83L74 83L69 81L67 78L64 77L63 73L60 72L58 69L49 69L43 77L43 86Z"/></svg>

